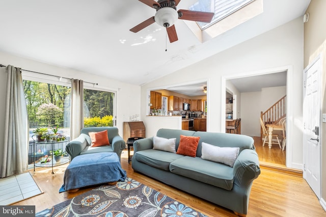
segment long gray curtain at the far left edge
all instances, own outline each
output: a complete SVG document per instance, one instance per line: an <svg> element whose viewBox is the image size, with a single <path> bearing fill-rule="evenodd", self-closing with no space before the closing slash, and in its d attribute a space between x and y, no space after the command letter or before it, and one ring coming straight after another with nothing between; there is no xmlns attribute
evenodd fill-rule
<svg viewBox="0 0 326 217"><path fill-rule="evenodd" d="M29 121L22 84L21 68L8 65L6 116L3 143L0 144L1 177L28 169Z"/></svg>

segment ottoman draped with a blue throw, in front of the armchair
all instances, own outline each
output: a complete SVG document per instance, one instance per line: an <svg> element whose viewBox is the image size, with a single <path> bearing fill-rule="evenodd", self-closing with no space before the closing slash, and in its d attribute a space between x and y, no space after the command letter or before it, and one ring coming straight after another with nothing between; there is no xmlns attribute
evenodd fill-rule
<svg viewBox="0 0 326 217"><path fill-rule="evenodd" d="M59 193L80 187L124 181L127 173L121 168L115 152L83 154L74 157L65 171Z"/></svg>

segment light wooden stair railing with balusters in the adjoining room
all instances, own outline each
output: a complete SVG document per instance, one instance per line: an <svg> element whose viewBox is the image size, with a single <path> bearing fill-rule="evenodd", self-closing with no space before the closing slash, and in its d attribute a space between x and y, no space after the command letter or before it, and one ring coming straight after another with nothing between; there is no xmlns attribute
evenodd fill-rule
<svg viewBox="0 0 326 217"><path fill-rule="evenodd" d="M277 124L286 117L286 95L270 106L265 112L260 112L261 120L266 124ZM260 129L260 137L262 129Z"/></svg>

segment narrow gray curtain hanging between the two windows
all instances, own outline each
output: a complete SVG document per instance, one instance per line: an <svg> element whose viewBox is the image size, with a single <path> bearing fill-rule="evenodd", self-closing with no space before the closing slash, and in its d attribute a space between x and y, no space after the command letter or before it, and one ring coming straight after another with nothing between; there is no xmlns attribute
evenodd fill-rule
<svg viewBox="0 0 326 217"><path fill-rule="evenodd" d="M84 82L71 79L70 139L78 137L84 128Z"/></svg>

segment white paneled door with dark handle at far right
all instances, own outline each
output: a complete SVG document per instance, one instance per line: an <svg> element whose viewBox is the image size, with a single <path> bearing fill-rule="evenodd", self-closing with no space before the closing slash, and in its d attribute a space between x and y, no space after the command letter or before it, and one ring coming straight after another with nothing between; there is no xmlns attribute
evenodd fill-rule
<svg viewBox="0 0 326 217"><path fill-rule="evenodd" d="M308 184L320 197L320 80L321 58L304 70L303 122L304 172Z"/></svg>

